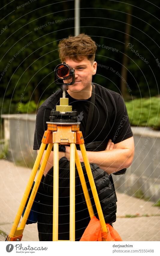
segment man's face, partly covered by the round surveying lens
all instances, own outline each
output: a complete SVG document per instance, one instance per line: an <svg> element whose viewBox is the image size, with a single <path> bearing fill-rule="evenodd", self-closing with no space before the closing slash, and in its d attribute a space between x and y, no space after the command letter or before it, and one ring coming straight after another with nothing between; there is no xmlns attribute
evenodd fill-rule
<svg viewBox="0 0 160 256"><path fill-rule="evenodd" d="M75 62L71 58L65 59L66 64L75 69L75 83L68 86L70 92L90 91L92 75L96 73L97 62L91 63L87 58L80 62ZM63 80L70 83L70 80Z"/></svg>

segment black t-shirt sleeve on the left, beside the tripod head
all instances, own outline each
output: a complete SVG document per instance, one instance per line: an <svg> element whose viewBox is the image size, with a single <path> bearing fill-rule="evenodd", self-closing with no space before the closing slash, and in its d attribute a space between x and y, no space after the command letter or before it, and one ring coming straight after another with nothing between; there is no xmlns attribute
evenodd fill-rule
<svg viewBox="0 0 160 256"><path fill-rule="evenodd" d="M37 112L36 122L35 122L35 135L34 135L34 144L33 149L37 150L41 146L41 141L44 135L44 131L47 130L46 122L50 122L50 112L51 110L45 108L44 106L40 107ZM48 145L48 144L47 144ZM47 145L45 150L47 149ZM52 148L53 150L53 148ZM65 146L59 145L59 151L65 152Z"/></svg>

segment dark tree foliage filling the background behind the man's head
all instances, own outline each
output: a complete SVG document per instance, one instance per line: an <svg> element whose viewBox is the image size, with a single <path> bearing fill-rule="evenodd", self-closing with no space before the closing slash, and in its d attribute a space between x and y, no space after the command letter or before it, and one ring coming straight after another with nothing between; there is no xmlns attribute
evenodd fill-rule
<svg viewBox="0 0 160 256"><path fill-rule="evenodd" d="M80 32L91 36L98 46L94 82L121 93L123 79L125 99L159 94L158 4L158 0L80 1ZM24 103L34 100L38 104L56 91L58 43L74 35L74 1L1 1L0 12L2 112L15 112L12 106L22 93ZM131 23L126 25L128 15ZM7 102L10 110L4 106Z"/></svg>

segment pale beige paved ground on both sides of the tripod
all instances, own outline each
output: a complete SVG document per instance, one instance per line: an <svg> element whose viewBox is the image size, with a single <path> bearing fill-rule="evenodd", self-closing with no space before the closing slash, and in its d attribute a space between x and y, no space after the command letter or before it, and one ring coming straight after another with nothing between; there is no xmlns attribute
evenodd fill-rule
<svg viewBox="0 0 160 256"><path fill-rule="evenodd" d="M13 225L31 169L0 160L0 241ZM117 193L117 220L113 223L123 241L160 241L160 207ZM136 217L131 217L136 216ZM39 241L37 224L26 225L22 241Z"/></svg>

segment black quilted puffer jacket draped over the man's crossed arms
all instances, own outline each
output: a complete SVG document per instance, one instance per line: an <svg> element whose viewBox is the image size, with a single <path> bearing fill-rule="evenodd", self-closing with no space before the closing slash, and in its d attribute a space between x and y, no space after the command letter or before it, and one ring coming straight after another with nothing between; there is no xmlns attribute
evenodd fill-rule
<svg viewBox="0 0 160 256"><path fill-rule="evenodd" d="M77 149L79 145L76 145ZM102 151L106 148L106 143L102 142L92 142L89 144L85 144L87 151ZM86 185L89 191L89 195L91 198L92 206L95 212L95 215L98 217L95 203L92 195L92 191L90 188L88 176L86 174L86 169L84 166L84 163L81 163L84 177L86 180ZM106 223L113 223L116 221L116 193L115 188L113 184L112 175L108 175L107 172L100 169L98 165L96 164L90 164L92 175L95 181L96 189L98 192L98 197L101 203L102 212L104 214L104 219ZM121 173L125 173L126 169L121 170ZM121 174L120 173L120 174ZM78 193L78 191L81 192L82 200L84 203L85 198L82 190L82 186L80 184L79 175L77 172L77 168L75 168L75 192ZM66 157L62 157L59 160L59 197L69 197L69 186L70 186L70 162L67 160ZM44 191L50 195L53 196L53 168L49 170L47 175L44 178L43 181L43 189Z"/></svg>

